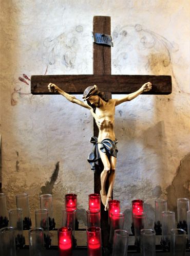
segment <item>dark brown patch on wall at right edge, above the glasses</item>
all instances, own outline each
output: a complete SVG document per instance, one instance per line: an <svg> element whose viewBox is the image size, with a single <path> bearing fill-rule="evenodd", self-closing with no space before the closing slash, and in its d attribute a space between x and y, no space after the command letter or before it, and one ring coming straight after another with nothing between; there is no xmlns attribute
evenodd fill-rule
<svg viewBox="0 0 190 256"><path fill-rule="evenodd" d="M176 176L172 184L166 188L167 207L170 211L177 212L177 199L190 197L190 153L188 153L180 162Z"/></svg>

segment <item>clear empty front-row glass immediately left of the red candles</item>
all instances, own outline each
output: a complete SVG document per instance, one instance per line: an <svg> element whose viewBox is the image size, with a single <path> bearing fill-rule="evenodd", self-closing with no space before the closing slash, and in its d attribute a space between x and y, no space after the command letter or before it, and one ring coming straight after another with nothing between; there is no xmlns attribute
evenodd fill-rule
<svg viewBox="0 0 190 256"><path fill-rule="evenodd" d="M44 233L42 228L31 228L28 231L29 255L43 256Z"/></svg>

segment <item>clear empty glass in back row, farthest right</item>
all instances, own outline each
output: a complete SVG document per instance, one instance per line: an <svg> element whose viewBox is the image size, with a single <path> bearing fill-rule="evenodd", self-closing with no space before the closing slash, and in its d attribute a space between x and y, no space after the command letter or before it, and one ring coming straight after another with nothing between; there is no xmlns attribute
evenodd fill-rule
<svg viewBox="0 0 190 256"><path fill-rule="evenodd" d="M189 199L178 198L177 199L177 211L178 211L178 228L182 228L187 232L187 211L189 210Z"/></svg>

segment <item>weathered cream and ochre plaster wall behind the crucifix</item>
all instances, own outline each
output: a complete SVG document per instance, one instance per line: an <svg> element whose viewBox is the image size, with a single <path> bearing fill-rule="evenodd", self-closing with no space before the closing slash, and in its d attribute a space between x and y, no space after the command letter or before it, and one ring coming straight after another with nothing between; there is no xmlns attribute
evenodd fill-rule
<svg viewBox="0 0 190 256"><path fill-rule="evenodd" d="M76 193L79 222L85 226L88 194L93 193L86 160L92 117L62 96L31 95L29 79L92 74L94 15L111 16L112 74L172 76L172 94L139 96L116 109L113 196L121 201L128 230L136 198L144 200L152 225L156 198L167 199L170 210L176 210L177 198L189 197L186 0L1 1L2 191L8 209L15 207L16 194L27 192L32 221L39 195L52 193L57 227L64 195Z"/></svg>

